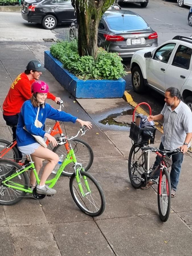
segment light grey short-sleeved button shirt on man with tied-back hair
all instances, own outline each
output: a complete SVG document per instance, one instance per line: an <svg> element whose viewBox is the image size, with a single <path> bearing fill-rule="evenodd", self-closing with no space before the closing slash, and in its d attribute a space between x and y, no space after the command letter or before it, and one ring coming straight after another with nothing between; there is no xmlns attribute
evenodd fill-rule
<svg viewBox="0 0 192 256"><path fill-rule="evenodd" d="M171 109L171 106L165 104L161 114L164 116L164 134L161 138L164 148L173 150L182 146L185 142L186 134L192 133L191 109L184 102L180 101L174 110Z"/></svg>

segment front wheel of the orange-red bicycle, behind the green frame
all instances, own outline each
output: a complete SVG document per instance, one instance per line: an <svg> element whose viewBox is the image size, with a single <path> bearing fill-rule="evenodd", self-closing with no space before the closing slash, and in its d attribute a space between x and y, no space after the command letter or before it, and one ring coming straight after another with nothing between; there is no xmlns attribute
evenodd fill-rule
<svg viewBox="0 0 192 256"><path fill-rule="evenodd" d="M89 146L88 143L85 141L82 141L80 139L74 139L71 141L73 150L75 152L75 156L77 159L77 162L82 164L82 167L85 171L88 171L89 168L92 166L93 163L93 150ZM67 151L65 149L65 145L58 145L55 148L53 148L53 152L58 154L59 156L61 154L67 156ZM63 176L71 176L73 174L73 163L68 164L65 169L62 172Z"/></svg>

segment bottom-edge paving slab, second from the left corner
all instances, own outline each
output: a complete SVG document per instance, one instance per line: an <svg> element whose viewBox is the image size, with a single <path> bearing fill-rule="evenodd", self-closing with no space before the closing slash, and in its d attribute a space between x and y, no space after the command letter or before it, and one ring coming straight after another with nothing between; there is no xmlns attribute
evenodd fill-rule
<svg viewBox="0 0 192 256"><path fill-rule="evenodd" d="M16 256L61 256L48 224L10 227Z"/></svg>

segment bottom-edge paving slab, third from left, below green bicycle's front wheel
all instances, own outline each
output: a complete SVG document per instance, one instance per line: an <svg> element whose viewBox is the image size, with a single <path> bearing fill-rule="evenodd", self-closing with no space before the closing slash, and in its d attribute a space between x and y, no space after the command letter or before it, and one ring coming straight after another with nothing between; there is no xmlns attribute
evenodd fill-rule
<svg viewBox="0 0 192 256"><path fill-rule="evenodd" d="M62 256L114 255L94 221L51 224L50 226Z"/></svg>

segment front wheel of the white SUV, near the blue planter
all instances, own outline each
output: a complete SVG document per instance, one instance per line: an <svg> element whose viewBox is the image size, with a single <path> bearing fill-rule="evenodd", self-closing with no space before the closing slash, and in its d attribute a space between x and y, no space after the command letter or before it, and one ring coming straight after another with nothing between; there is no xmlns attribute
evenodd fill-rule
<svg viewBox="0 0 192 256"><path fill-rule="evenodd" d="M138 66L135 66L131 72L131 81L132 81L132 86L133 90L135 92L143 92L144 90L144 80L143 80L143 75L141 72L141 69Z"/></svg>

